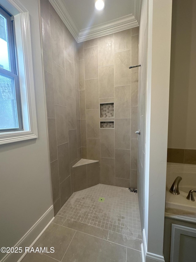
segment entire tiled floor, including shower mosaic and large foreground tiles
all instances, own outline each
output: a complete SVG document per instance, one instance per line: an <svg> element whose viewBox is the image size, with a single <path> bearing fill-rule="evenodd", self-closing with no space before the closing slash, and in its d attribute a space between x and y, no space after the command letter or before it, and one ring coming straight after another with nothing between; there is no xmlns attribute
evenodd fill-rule
<svg viewBox="0 0 196 262"><path fill-rule="evenodd" d="M22 262L141 262L141 242L137 194L99 184L75 192L33 246L55 252Z"/></svg>

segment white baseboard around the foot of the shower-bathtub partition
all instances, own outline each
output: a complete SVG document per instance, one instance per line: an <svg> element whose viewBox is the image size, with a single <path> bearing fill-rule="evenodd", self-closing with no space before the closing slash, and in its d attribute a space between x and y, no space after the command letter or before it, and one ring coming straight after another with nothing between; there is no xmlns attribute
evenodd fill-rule
<svg viewBox="0 0 196 262"><path fill-rule="evenodd" d="M147 251L147 244L146 244L146 235L145 235L145 229L143 229L142 231L142 262L155 262L155 261L159 261L159 262L165 262L164 260L164 256L160 256L154 253L150 253Z"/></svg>

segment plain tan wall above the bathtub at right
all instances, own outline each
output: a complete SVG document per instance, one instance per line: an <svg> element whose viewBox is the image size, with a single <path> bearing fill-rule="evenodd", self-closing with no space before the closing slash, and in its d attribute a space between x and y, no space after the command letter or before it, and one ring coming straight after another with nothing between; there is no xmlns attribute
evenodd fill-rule
<svg viewBox="0 0 196 262"><path fill-rule="evenodd" d="M196 1L173 1L168 147L196 149Z"/></svg>

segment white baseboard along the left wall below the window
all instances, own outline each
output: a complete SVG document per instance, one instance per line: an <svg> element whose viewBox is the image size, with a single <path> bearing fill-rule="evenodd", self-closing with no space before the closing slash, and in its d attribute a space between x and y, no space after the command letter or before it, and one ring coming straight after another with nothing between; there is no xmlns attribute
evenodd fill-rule
<svg viewBox="0 0 196 262"><path fill-rule="evenodd" d="M42 217L30 228L27 233L15 244L14 247L32 247L38 238L43 234L47 227L51 224L54 219L53 205L43 214ZM41 233L40 233L41 232ZM3 257L0 262L20 262L24 257L25 253L9 253Z"/></svg>

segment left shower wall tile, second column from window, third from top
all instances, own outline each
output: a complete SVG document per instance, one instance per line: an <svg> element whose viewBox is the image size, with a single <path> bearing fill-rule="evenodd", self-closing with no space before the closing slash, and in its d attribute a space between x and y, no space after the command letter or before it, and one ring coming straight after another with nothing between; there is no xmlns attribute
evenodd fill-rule
<svg viewBox="0 0 196 262"><path fill-rule="evenodd" d="M67 108L55 105L57 145L68 142Z"/></svg>

